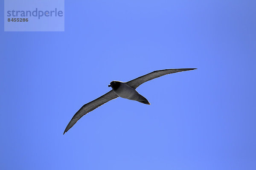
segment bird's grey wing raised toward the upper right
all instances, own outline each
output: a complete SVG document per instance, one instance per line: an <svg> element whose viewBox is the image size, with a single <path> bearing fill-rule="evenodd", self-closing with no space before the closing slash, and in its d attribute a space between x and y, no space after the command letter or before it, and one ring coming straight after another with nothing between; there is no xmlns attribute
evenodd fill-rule
<svg viewBox="0 0 256 170"><path fill-rule="evenodd" d="M161 77L161 76L164 76L166 74L177 73L177 72L180 72L180 71L195 70L195 69L196 68L176 68L176 69L157 70L157 71L153 71L151 73L148 73L144 76L133 79L129 82L126 82L126 84L129 85L131 88L136 89L137 87L139 87L139 85L141 85L142 83L147 82L151 79L155 79L157 77Z"/></svg>

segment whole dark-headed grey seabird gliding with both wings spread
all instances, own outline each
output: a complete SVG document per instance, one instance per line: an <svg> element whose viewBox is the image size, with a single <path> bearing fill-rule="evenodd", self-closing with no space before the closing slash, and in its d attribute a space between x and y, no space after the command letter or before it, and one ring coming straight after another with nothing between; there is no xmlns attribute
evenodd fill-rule
<svg viewBox="0 0 256 170"><path fill-rule="evenodd" d="M139 87L139 85L151 79L164 76L166 74L172 74L172 73L177 73L181 71L189 71L189 70L195 70L195 69L196 68L176 68L176 69L157 70L128 82L112 81L110 85L108 85L108 87L111 87L112 90L104 94L103 96L100 96L99 98L83 105L83 107L81 107L79 111L77 111L76 114L73 116L73 118L70 120L63 134L65 134L73 125L75 125L75 123L86 113L93 111L94 109L98 108L104 103L111 101L113 99L116 99L117 97L136 100L146 105L150 105L148 100L135 90L137 87Z"/></svg>

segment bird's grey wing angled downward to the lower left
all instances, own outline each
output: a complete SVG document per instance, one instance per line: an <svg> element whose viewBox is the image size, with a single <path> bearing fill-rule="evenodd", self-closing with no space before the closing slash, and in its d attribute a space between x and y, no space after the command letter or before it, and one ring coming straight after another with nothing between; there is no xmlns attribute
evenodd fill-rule
<svg viewBox="0 0 256 170"><path fill-rule="evenodd" d="M103 96L100 96L98 99L95 99L81 107L79 111L76 112L76 114L73 116L73 118L68 123L66 129L64 130L65 134L67 130L69 130L75 123L86 113L89 113L90 111L93 111L94 109L98 108L99 106L103 105L104 103L116 99L118 96L114 93L113 90L109 91L108 93L104 94Z"/></svg>

